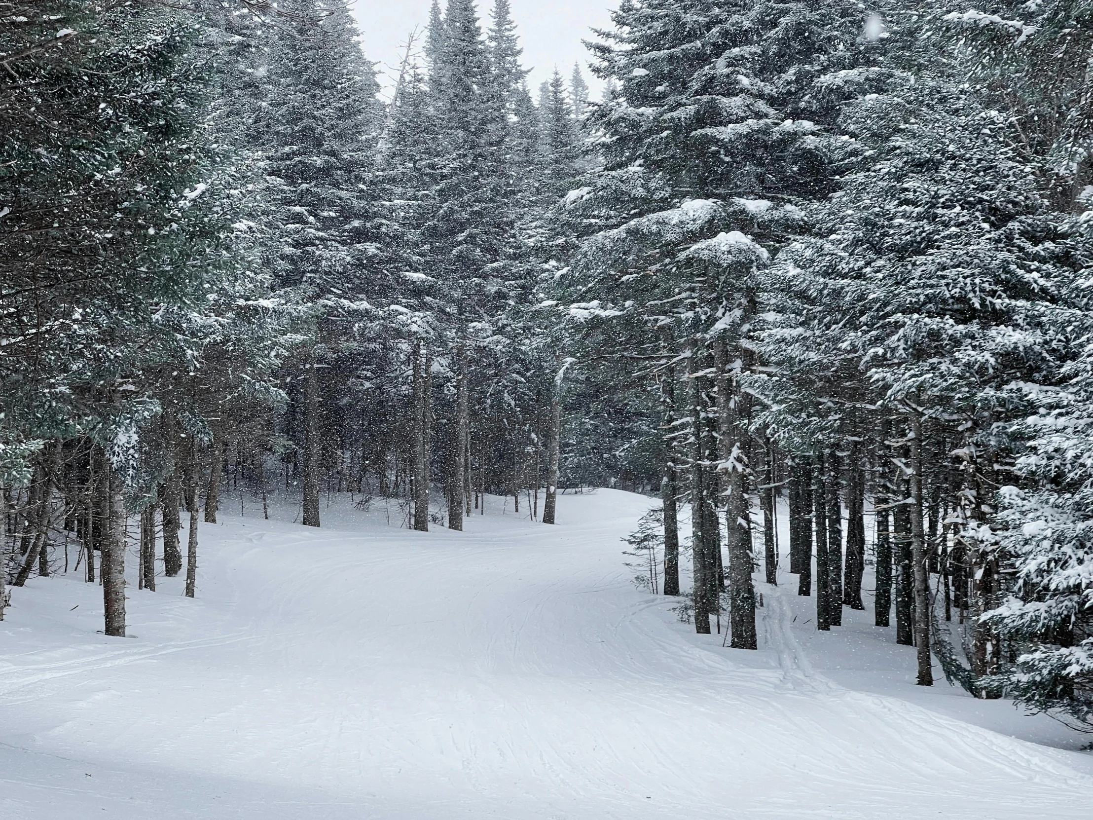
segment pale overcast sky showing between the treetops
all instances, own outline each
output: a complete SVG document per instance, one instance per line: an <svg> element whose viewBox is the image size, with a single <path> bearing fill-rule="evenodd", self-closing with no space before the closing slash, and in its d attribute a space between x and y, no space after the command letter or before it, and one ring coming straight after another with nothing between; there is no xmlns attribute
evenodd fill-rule
<svg viewBox="0 0 1093 820"><path fill-rule="evenodd" d="M415 25L424 28L431 4L432 0L355 0L353 11L368 59L378 60L381 70L398 66L400 46ZM446 0L440 4L446 5ZM615 0L512 0L524 65L534 69L529 78L532 89L550 75L555 63L566 79L574 62L587 65L588 52L580 40L590 37L589 28L610 25L608 10L614 4ZM483 28L489 26L492 9L493 0L479 0ZM585 77L596 87L587 70Z"/></svg>

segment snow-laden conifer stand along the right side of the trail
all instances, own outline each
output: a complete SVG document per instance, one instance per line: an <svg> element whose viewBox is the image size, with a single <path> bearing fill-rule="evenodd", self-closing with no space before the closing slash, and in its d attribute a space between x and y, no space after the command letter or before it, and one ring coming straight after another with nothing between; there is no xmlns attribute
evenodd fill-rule
<svg viewBox="0 0 1093 820"><path fill-rule="evenodd" d="M868 559L919 684L932 649L1089 725L1091 45L1065 1L620 3L562 290L574 355L659 409L698 632L724 601L756 647L780 499L818 629Z"/></svg>

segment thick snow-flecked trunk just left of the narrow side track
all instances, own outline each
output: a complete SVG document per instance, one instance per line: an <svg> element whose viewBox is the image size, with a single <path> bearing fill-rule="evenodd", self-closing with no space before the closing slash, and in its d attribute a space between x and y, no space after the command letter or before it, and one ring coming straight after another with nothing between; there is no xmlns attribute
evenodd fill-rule
<svg viewBox="0 0 1093 820"><path fill-rule="evenodd" d="M715 342L718 377L717 402L721 423L721 459L727 484L729 552L729 620L736 649L759 648L755 630L755 586L752 581L751 501L748 497L748 458L744 426L740 420L741 397L728 371L724 339Z"/></svg>

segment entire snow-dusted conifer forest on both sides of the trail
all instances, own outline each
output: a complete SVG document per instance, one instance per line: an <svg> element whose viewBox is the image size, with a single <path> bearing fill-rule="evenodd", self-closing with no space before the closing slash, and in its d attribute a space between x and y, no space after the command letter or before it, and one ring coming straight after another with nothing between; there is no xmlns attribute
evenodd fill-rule
<svg viewBox="0 0 1093 820"><path fill-rule="evenodd" d="M622 0L592 99L507 0L387 95L337 0L0 2L3 600L79 572L124 635L228 492L613 485L700 632L787 560L1093 727L1091 13Z"/></svg>

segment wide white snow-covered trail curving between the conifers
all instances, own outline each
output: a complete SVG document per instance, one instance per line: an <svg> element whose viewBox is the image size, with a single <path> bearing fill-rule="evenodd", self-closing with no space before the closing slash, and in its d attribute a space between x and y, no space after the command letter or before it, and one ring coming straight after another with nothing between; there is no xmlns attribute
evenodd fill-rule
<svg viewBox="0 0 1093 820"><path fill-rule="evenodd" d="M693 635L622 565L648 503L466 534L228 519L199 599L130 590L127 640L95 634L97 587L36 579L0 628L0 815L1089 817L1089 755L839 686L788 594L763 587L759 653Z"/></svg>

